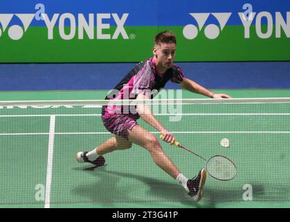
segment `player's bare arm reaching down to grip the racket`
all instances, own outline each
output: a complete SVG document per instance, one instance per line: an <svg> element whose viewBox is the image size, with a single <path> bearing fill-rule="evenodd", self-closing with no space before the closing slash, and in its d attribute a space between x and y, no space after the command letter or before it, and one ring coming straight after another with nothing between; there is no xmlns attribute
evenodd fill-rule
<svg viewBox="0 0 290 222"><path fill-rule="evenodd" d="M146 100L146 99L149 99L149 98L147 96L145 96L144 94L138 94L136 99L137 100ZM152 110L148 107L148 105L146 105L145 103L137 104L136 105L136 110L137 110L138 114L140 115L140 117L146 123L148 123L150 126L153 126L162 135L164 135L163 141L165 141L167 143L173 143L174 142L175 138L172 135L172 133L170 133L168 130L166 130L164 128L164 126L162 126L162 124L159 123L159 121L155 118L154 114L152 113Z"/></svg>

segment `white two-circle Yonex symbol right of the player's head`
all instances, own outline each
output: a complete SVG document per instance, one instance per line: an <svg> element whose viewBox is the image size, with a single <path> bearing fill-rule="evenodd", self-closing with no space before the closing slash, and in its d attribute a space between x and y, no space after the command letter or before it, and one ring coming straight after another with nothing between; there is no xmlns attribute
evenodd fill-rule
<svg viewBox="0 0 290 222"><path fill-rule="evenodd" d="M226 23L228 22L228 19L230 18L231 12L215 12L215 13L190 13L190 15L197 21L197 26L194 26L194 24L188 24L183 28L183 35L188 40L193 40L197 37L201 29L203 28L204 24L206 23L206 20L208 17L213 15L217 22L219 22L219 26L215 24L208 24L206 28L204 28L204 34L206 37L210 40L214 40L215 38L219 37L219 33L224 29L224 26L226 26Z"/></svg>

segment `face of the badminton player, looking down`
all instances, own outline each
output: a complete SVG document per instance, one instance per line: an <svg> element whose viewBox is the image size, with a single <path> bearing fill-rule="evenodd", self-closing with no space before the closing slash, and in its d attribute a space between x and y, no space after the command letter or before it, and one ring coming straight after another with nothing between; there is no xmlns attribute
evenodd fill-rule
<svg viewBox="0 0 290 222"><path fill-rule="evenodd" d="M156 63L162 65L165 69L169 69L174 61L175 51L175 43L161 43L154 46L153 53Z"/></svg>

